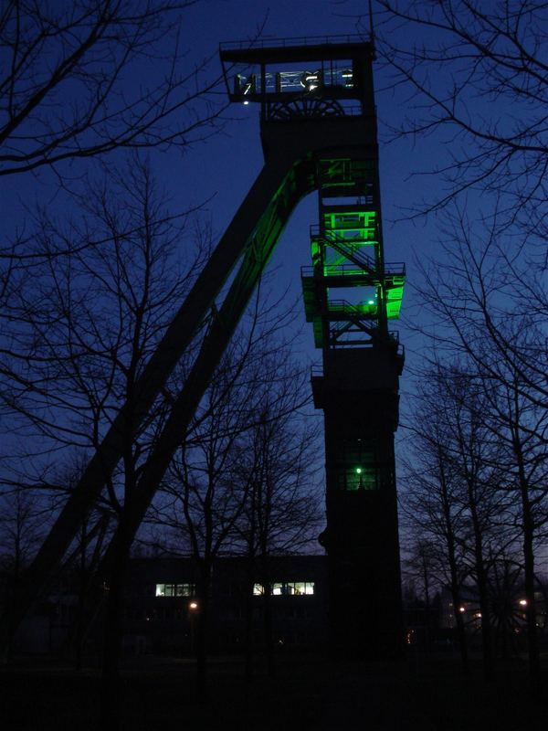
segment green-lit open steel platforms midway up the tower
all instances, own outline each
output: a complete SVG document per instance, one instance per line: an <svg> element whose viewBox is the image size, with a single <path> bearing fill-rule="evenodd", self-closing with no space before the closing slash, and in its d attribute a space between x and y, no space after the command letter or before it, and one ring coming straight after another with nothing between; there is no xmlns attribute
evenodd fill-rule
<svg viewBox="0 0 548 731"><path fill-rule="evenodd" d="M306 320L316 347L328 346L327 333L332 346L373 344L390 337L386 323L399 317L406 270L384 262L380 216L371 205L374 185L367 179L372 167L330 162L329 196L321 201L320 225L311 228L312 266L301 271ZM339 189L333 170L346 176ZM360 176L351 185L356 170Z"/></svg>

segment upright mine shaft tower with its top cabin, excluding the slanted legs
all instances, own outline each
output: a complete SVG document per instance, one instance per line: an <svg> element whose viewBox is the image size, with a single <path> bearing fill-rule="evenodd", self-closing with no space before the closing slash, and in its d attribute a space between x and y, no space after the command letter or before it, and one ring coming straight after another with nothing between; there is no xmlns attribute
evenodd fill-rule
<svg viewBox="0 0 548 731"><path fill-rule="evenodd" d="M267 160L299 146L319 196L311 266L302 269L306 319L321 348L316 408L325 417L332 650L398 652L403 628L394 433L403 352L405 268L386 264L368 43L311 39L221 52L233 101L261 104ZM306 151L306 152L305 152Z"/></svg>

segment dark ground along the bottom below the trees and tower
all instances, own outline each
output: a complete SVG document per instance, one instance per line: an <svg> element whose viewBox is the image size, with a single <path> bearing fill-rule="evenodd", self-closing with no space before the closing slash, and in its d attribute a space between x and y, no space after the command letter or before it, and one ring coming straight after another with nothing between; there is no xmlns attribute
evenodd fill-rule
<svg viewBox="0 0 548 731"><path fill-rule="evenodd" d="M496 683L483 682L479 661L464 678L458 658L448 653L335 665L284 656L274 679L258 673L248 684L240 662L217 658L209 674L210 697L200 704L192 662L127 658L122 729L530 731L548 723L546 681L543 699L533 703L520 659L502 663ZM59 662L17 658L0 669L0 683L5 731L99 727L99 675L93 668L77 673Z"/></svg>

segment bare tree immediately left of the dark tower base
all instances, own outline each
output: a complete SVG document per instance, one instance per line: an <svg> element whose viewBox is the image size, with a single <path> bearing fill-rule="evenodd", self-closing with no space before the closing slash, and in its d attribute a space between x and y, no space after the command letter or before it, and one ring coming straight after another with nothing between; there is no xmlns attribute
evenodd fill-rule
<svg viewBox="0 0 548 731"><path fill-rule="evenodd" d="M252 676L253 589L262 588L267 671L275 672L272 630L272 556L311 550L323 521L318 489L318 425L300 409L309 398L307 376L280 349L263 361L275 375L265 383L256 422L240 448L239 470L247 476L248 500L237 524L248 559L246 677Z"/></svg>

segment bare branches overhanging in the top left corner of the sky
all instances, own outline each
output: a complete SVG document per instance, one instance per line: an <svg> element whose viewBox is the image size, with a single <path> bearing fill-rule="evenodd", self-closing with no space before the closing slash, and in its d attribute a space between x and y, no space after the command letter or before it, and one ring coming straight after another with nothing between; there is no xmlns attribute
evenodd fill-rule
<svg viewBox="0 0 548 731"><path fill-rule="evenodd" d="M188 68L195 0L8 2L0 14L0 175L119 148L186 146L213 124ZM215 83L215 82L214 82ZM57 169L57 168L56 168Z"/></svg>

